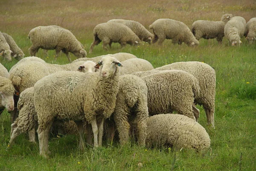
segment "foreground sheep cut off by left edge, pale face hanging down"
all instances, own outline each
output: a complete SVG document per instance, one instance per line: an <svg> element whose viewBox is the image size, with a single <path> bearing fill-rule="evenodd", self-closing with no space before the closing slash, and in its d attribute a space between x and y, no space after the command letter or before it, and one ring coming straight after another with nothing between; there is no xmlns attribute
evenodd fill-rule
<svg viewBox="0 0 256 171"><path fill-rule="evenodd" d="M14 110L14 94L15 89L12 85L12 81L9 80L9 72L0 63L0 115L4 108L6 108L6 110L9 112Z"/></svg>

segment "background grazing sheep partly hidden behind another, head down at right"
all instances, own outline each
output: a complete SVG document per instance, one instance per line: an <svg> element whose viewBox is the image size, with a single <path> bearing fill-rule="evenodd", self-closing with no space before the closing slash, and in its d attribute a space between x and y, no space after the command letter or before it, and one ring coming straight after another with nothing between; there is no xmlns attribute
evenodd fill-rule
<svg viewBox="0 0 256 171"><path fill-rule="evenodd" d="M154 35L151 32L148 32L148 30L139 22L133 21L133 20L123 20L123 19L112 19L108 22L116 22L124 24L125 26L128 26L142 41L145 41L147 43L151 43L152 38Z"/></svg>

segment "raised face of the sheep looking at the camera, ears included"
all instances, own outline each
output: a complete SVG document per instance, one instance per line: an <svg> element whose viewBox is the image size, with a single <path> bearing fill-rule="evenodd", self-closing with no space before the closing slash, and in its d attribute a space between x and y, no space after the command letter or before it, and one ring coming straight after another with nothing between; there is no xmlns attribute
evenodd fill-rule
<svg viewBox="0 0 256 171"><path fill-rule="evenodd" d="M104 79L113 77L116 73L116 67L122 67L122 64L112 56L102 57L102 60L95 65Z"/></svg>

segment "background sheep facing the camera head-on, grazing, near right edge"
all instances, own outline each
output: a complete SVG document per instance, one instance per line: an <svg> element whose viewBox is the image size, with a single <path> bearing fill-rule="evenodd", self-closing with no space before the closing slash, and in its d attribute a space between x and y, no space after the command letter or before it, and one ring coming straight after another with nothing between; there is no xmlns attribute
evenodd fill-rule
<svg viewBox="0 0 256 171"><path fill-rule="evenodd" d="M236 46L242 43L240 38L244 36L246 21L243 17L232 17L224 27L224 35L232 43L232 46Z"/></svg>

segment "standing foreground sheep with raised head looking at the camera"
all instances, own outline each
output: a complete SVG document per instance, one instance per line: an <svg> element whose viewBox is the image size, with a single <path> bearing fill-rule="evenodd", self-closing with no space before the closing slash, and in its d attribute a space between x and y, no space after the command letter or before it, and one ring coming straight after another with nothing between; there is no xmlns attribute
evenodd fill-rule
<svg viewBox="0 0 256 171"><path fill-rule="evenodd" d="M92 125L94 147L102 145L103 122L114 111L119 90L119 68L122 64L105 56L96 66L99 73L57 72L39 80L34 86L34 104L38 116L40 154L47 157L48 134L53 119L70 119L78 124L83 149L82 119ZM98 76L97 76L98 75ZM103 116L98 126L96 115Z"/></svg>

